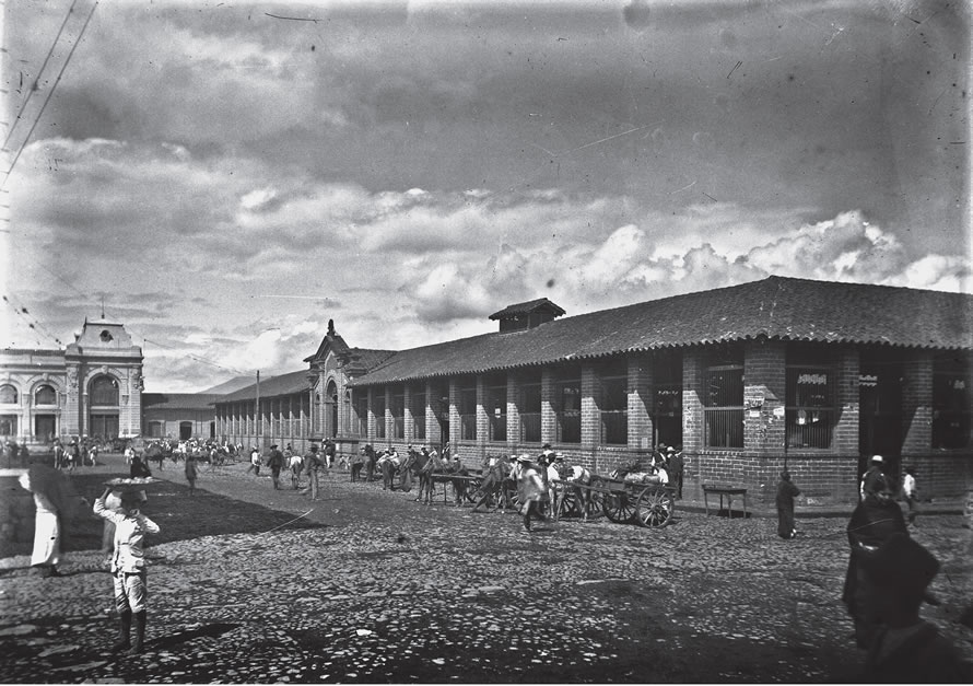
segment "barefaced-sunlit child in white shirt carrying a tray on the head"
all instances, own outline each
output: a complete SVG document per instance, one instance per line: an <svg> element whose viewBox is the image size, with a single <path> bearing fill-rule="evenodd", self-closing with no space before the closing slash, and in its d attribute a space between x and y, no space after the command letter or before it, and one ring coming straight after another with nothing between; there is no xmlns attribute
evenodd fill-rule
<svg viewBox="0 0 973 686"><path fill-rule="evenodd" d="M139 512L139 492L122 491L121 505L109 510L105 499L112 488L95 500L94 513L115 523L115 550L112 556L112 577L115 590L115 607L121 621L118 640L112 650L129 649L133 655L142 652L145 640L145 601L148 572L142 539L145 534L157 534L159 525ZM132 617L136 619L136 640L129 640Z"/></svg>

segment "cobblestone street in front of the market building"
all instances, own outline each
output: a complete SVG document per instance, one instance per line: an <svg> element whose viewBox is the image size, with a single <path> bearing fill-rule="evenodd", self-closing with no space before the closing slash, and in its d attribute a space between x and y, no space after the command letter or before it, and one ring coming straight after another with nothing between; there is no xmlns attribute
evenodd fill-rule
<svg viewBox="0 0 973 686"><path fill-rule="evenodd" d="M200 512L227 533L149 548L146 652L108 651L99 551L69 551L55 579L10 557L4 681L848 682L863 662L840 601L844 516L799 518L789 542L773 518L687 510L663 530L565 520L528 534L511 513L442 496L421 505L414 490L342 472L316 502L244 464L204 466L192 498L180 467L154 475L172 479L145 508L161 537ZM187 501L191 513L177 505ZM253 533L246 513L265 509L281 524ZM943 603L924 614L973 658L973 632L956 621L970 531L960 515L929 515L914 535L942 561L933 591Z"/></svg>

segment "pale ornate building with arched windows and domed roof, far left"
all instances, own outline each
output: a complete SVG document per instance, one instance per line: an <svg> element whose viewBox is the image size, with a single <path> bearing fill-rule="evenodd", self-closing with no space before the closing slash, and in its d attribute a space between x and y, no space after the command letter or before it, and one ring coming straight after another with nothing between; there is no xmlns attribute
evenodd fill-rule
<svg viewBox="0 0 973 686"><path fill-rule="evenodd" d="M134 437L141 402L142 349L121 324L85 319L65 350L0 351L0 437Z"/></svg>

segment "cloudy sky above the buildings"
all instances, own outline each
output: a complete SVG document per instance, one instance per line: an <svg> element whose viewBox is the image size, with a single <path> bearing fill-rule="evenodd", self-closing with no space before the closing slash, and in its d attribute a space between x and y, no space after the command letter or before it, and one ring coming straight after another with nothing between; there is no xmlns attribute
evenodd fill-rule
<svg viewBox="0 0 973 686"><path fill-rule="evenodd" d="M305 369L329 319L402 349L536 298L973 292L963 2L3 7L0 338L104 314L148 392Z"/></svg>

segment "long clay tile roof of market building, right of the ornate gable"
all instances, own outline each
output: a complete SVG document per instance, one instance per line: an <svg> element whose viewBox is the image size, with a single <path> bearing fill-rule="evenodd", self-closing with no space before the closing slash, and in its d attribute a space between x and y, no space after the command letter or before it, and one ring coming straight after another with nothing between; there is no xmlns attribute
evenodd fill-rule
<svg viewBox="0 0 973 686"><path fill-rule="evenodd" d="M970 350L973 295L770 277L581 314L521 332L400 350L351 385L477 374L760 336Z"/></svg>

